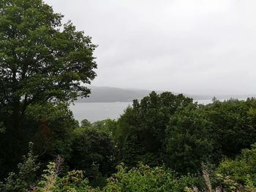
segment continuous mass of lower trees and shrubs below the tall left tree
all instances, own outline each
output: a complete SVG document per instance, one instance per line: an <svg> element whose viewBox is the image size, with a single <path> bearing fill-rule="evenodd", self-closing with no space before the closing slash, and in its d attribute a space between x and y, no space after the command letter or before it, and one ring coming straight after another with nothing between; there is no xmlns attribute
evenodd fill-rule
<svg viewBox="0 0 256 192"><path fill-rule="evenodd" d="M61 105L30 110L22 143L33 142L35 155L30 147L14 169L27 146L17 142L1 150L1 176L15 172L4 180L2 191L39 190L49 182L53 191L256 189L255 99L202 105L182 94L152 92L133 101L118 120L83 120L80 126ZM4 133L0 136L1 146L8 146ZM57 156L64 162L47 169ZM42 169L48 171L40 177Z"/></svg>

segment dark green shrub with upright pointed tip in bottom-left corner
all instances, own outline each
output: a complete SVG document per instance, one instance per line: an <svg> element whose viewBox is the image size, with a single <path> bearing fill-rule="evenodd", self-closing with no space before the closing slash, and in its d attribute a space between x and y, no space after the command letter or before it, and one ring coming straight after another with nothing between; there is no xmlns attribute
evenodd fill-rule
<svg viewBox="0 0 256 192"><path fill-rule="evenodd" d="M18 164L18 172L10 172L9 176L0 183L0 191L26 191L36 183L36 173L39 164L33 153L33 143L29 143L29 153L23 156L23 163Z"/></svg>

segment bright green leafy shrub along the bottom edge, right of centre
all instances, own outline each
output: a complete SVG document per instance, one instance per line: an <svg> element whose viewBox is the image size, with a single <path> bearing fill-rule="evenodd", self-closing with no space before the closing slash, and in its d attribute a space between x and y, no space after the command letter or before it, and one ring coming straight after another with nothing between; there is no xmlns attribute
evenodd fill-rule
<svg viewBox="0 0 256 192"><path fill-rule="evenodd" d="M138 168L127 169L118 166L118 172L108 178L104 191L183 191L185 186L197 185L194 177L178 178L175 172L163 166L150 168L140 164Z"/></svg>

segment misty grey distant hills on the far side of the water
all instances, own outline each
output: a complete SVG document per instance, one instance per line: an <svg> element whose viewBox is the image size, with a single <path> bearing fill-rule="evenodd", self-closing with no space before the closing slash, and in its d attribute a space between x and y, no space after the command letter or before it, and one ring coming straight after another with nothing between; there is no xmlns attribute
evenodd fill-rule
<svg viewBox="0 0 256 192"><path fill-rule="evenodd" d="M140 90L133 88L110 88L110 87L95 87L91 86L91 94L87 98L78 98L75 102L129 102L133 99L143 99L144 96L148 96L151 93L151 90ZM162 93L163 91L157 91L157 93ZM174 93L178 94L178 93ZM212 99L214 97L211 95L188 95L195 100L205 100ZM252 97L248 95L220 95L216 96L217 99L230 99L230 98L238 98L238 99L246 99L247 97Z"/></svg>

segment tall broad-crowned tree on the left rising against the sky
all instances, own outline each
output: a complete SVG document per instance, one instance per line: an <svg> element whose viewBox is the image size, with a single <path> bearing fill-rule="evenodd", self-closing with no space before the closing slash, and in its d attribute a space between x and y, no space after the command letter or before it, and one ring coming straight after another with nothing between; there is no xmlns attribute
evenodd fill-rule
<svg viewBox="0 0 256 192"><path fill-rule="evenodd" d="M86 97L96 76L96 45L61 18L42 0L0 2L0 145L17 157L28 108Z"/></svg>

